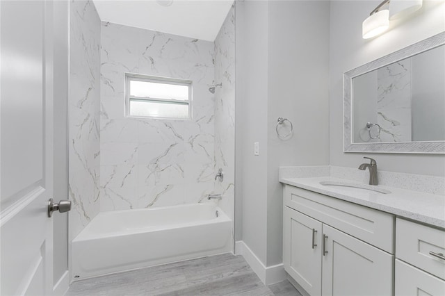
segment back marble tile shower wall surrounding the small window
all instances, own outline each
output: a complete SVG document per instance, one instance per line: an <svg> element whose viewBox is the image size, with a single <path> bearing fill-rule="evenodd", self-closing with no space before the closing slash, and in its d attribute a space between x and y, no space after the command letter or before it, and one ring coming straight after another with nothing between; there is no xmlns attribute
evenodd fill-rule
<svg viewBox="0 0 445 296"><path fill-rule="evenodd" d="M102 23L100 208L202 201L215 175L213 42ZM124 73L193 81L193 120L124 117Z"/></svg>

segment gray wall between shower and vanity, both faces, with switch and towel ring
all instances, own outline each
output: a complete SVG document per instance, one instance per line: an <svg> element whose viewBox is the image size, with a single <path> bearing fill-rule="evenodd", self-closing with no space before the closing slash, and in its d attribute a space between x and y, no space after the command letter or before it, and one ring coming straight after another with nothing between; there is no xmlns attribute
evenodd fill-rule
<svg viewBox="0 0 445 296"><path fill-rule="evenodd" d="M328 24L329 1L236 2L236 239L266 266L282 262L278 167L329 163Z"/></svg>

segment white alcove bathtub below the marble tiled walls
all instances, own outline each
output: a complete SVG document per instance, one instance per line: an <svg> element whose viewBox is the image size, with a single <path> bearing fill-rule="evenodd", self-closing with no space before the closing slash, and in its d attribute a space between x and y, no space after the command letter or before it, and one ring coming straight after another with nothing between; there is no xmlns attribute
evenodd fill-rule
<svg viewBox="0 0 445 296"><path fill-rule="evenodd" d="M232 220L213 202L103 212L72 241L72 277L85 279L231 250Z"/></svg>

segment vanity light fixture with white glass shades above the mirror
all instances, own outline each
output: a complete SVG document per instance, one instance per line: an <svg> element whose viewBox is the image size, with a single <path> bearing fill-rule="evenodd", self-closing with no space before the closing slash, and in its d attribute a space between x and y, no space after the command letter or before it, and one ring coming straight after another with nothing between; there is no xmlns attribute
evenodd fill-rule
<svg viewBox="0 0 445 296"><path fill-rule="evenodd" d="M373 38L387 31L389 21L400 19L422 7L422 0L384 0L362 24L363 39Z"/></svg>

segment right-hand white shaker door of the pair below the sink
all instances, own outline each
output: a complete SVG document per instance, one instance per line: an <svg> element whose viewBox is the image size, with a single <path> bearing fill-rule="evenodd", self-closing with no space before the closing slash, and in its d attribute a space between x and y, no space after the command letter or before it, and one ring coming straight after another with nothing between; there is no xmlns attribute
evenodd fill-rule
<svg viewBox="0 0 445 296"><path fill-rule="evenodd" d="M392 295L393 255L326 224L322 240L322 295Z"/></svg>

